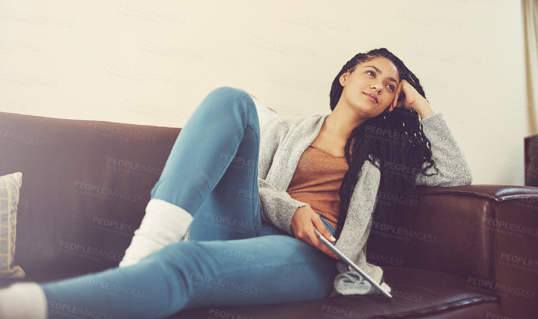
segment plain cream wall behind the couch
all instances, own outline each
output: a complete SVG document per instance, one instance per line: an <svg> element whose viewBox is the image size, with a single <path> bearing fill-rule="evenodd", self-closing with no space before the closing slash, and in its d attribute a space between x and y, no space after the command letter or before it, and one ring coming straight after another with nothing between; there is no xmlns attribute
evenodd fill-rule
<svg viewBox="0 0 538 319"><path fill-rule="evenodd" d="M282 116L327 114L343 64L386 47L444 112L473 184L524 183L511 164L534 133L518 1L33 0L0 11L0 111L183 127L207 93L235 86Z"/></svg>

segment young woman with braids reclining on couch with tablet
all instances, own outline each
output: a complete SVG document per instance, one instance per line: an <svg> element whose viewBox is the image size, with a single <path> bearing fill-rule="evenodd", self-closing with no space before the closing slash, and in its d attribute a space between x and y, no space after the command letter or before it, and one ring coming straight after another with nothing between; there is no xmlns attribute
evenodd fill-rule
<svg viewBox="0 0 538 319"><path fill-rule="evenodd" d="M139 229L159 238L138 231L114 269L2 289L0 317L165 318L372 293L314 228L390 291L364 257L370 224L405 227L413 207L396 213L378 194L416 200L416 185L470 184L472 175L419 79L385 48L344 65L330 108L271 119L260 135L248 93L210 92L167 159L164 171L175 178L161 175L151 191Z"/></svg>

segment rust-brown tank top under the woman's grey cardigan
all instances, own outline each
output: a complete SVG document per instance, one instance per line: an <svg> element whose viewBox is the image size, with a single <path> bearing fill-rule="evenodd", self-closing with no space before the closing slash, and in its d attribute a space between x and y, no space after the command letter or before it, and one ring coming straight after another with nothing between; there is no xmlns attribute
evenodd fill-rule
<svg viewBox="0 0 538 319"><path fill-rule="evenodd" d="M310 145L303 152L286 192L306 202L336 229L340 214L340 185L348 171L345 156L335 156Z"/></svg>

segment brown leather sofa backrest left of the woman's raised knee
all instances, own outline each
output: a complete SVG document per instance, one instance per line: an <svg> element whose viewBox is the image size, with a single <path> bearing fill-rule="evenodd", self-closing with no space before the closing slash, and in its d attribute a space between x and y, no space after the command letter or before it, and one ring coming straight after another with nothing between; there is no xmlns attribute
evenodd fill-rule
<svg viewBox="0 0 538 319"><path fill-rule="evenodd" d="M15 264L27 274L117 266L180 131L0 112L0 175L23 173Z"/></svg>

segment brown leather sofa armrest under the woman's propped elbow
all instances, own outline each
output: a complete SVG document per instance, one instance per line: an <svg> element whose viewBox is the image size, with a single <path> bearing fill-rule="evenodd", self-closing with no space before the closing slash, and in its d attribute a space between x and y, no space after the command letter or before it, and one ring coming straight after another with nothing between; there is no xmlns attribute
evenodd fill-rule
<svg viewBox="0 0 538 319"><path fill-rule="evenodd" d="M467 278L498 295L506 315L538 313L538 188L464 185L417 188L404 266ZM518 311L523 311L519 313Z"/></svg>

